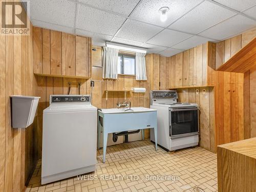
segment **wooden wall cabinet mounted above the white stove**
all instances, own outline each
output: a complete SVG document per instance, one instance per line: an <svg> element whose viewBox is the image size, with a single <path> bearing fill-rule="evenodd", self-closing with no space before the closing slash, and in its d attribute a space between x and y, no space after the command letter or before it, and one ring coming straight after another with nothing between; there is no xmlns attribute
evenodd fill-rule
<svg viewBox="0 0 256 192"><path fill-rule="evenodd" d="M215 78L215 44L206 42L193 49L170 57L170 80L168 89L212 86Z"/></svg>

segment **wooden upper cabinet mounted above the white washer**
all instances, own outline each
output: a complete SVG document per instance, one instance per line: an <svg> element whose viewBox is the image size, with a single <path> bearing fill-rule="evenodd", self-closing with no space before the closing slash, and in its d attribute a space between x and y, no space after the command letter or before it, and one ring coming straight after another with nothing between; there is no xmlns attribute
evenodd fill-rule
<svg viewBox="0 0 256 192"><path fill-rule="evenodd" d="M90 78L91 38L33 27L34 73Z"/></svg>

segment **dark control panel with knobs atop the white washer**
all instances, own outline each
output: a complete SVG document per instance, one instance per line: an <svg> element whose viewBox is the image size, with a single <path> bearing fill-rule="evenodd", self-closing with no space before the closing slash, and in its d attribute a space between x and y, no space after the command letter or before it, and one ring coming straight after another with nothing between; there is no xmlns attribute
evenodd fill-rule
<svg viewBox="0 0 256 192"><path fill-rule="evenodd" d="M51 95L50 103L63 103L63 102L78 102L78 103L90 103L90 95Z"/></svg>

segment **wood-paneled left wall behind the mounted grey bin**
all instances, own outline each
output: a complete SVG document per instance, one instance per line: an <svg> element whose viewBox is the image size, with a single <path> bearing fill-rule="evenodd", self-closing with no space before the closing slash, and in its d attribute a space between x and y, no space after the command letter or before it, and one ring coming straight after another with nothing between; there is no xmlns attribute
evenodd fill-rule
<svg viewBox="0 0 256 192"><path fill-rule="evenodd" d="M23 191L37 160L37 118L26 129L11 127L10 95L35 95L32 34L0 35L0 191Z"/></svg>

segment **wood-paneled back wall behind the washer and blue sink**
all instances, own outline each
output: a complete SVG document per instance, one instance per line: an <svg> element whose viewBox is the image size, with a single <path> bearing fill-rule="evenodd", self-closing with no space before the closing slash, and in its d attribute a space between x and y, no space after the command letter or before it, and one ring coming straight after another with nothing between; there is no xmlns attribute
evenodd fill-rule
<svg viewBox="0 0 256 192"><path fill-rule="evenodd" d="M43 29L44 30L44 29ZM101 55L101 49L95 48L96 51L92 51L92 65L98 66L97 69L101 69L101 61L99 55ZM63 54L62 54L63 55ZM44 58L44 52L42 52L42 58ZM79 58L77 58L79 59ZM93 68L92 66L92 68ZM132 87L146 88L146 93L127 93L126 98L131 100L132 106L145 106L150 107L150 91L151 80L153 75L153 54L146 56L146 70L147 81L136 81L135 76L130 75L118 75L117 80L103 79L102 81L95 80L93 89L90 87L90 81L83 79L73 78L60 78L60 77L42 77L36 76L36 95L40 96L38 106L38 129L37 129L37 153L38 159L41 158L41 146L42 146L42 111L49 106L49 98L51 94L68 94L69 82L72 83L70 94L78 94L78 83L81 82L80 94L92 94L92 104L97 108L116 108L117 102L124 100L124 92L110 92L111 90L131 90ZM95 77L95 73L98 71L92 70L92 77ZM101 72L102 73L102 72ZM106 100L105 90L108 90L108 100ZM150 131L145 131L145 138L150 137Z"/></svg>

